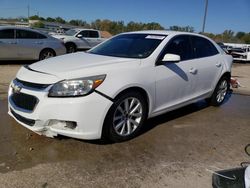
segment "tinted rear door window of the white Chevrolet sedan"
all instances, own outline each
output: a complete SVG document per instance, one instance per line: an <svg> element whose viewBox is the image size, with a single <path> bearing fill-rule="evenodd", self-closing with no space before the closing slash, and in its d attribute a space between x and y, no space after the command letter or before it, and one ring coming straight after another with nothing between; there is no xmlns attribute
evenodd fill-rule
<svg viewBox="0 0 250 188"><path fill-rule="evenodd" d="M218 54L218 50L207 39L197 36L192 36L194 54L196 58L208 57Z"/></svg>

